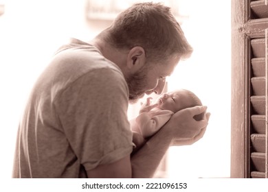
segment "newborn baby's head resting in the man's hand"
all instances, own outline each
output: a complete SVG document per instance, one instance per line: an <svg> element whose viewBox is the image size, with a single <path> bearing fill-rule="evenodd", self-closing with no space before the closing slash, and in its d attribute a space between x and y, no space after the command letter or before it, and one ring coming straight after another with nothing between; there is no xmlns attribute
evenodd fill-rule
<svg viewBox="0 0 268 192"><path fill-rule="evenodd" d="M186 89L179 89L177 91L164 93L157 100L158 106L157 108L161 110L171 110L172 112L178 112L184 108L191 108L194 106L202 106L201 100ZM199 115L195 115L194 119L197 121L203 119L204 113Z"/></svg>

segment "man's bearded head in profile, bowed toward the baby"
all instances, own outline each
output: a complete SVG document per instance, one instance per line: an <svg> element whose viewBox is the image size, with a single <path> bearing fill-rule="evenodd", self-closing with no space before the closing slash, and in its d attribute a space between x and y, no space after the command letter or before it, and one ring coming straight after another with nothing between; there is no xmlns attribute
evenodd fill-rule
<svg viewBox="0 0 268 192"><path fill-rule="evenodd" d="M122 69L130 101L144 93L161 94L165 77L181 58L192 53L170 8L160 3L134 4L120 13L100 37L113 47L108 59Z"/></svg>

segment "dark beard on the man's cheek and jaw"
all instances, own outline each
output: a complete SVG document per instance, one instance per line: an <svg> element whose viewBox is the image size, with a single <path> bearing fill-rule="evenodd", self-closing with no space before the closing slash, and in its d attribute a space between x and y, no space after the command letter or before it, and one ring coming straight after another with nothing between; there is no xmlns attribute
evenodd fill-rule
<svg viewBox="0 0 268 192"><path fill-rule="evenodd" d="M143 69L126 78L126 83L129 86L129 102L131 104L135 104L146 92L147 71L147 69Z"/></svg>

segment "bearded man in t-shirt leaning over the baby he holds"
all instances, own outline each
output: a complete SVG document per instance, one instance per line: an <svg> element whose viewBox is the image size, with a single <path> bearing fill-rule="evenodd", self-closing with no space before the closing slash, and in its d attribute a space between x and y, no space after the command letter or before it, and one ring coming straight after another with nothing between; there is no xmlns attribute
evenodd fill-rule
<svg viewBox="0 0 268 192"><path fill-rule="evenodd" d="M73 39L38 78L19 125L14 178L150 178L173 141L198 141L208 125L177 112L133 152L128 103L160 94L192 52L170 9L138 3L91 43Z"/></svg>

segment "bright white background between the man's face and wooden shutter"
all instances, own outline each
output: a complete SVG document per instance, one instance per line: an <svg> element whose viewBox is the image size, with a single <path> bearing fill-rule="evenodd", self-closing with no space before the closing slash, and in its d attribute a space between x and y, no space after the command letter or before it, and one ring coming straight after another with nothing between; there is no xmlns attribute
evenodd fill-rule
<svg viewBox="0 0 268 192"><path fill-rule="evenodd" d="M170 149L171 177L230 177L231 2L189 2L183 31L194 52L180 62L169 88L188 88L211 112L203 139Z"/></svg>

